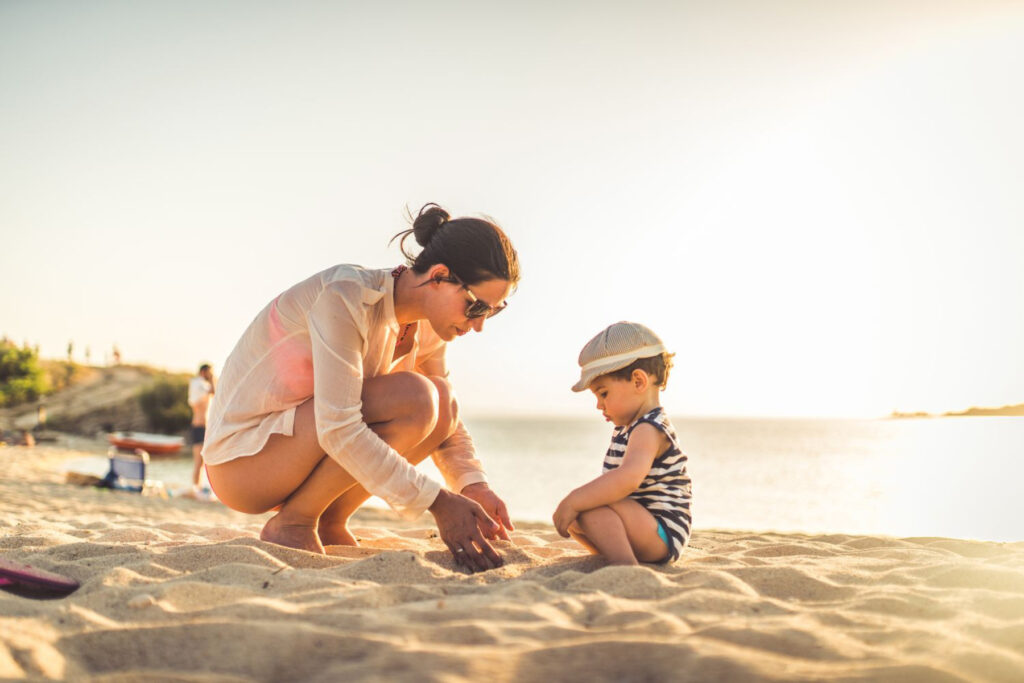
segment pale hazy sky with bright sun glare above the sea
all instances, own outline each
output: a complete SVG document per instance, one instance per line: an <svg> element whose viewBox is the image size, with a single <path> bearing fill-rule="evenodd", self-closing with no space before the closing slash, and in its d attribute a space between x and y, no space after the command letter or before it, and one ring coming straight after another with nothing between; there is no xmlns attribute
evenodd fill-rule
<svg viewBox="0 0 1024 683"><path fill-rule="evenodd" d="M0 2L0 335L223 366L407 210L522 282L467 415L591 415L620 319L673 414L1024 401L1024 3Z"/></svg>

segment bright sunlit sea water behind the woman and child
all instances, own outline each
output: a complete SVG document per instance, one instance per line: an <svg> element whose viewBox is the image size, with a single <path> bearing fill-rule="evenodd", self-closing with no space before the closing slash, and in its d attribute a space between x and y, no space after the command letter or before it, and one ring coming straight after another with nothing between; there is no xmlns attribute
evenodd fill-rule
<svg viewBox="0 0 1024 683"><path fill-rule="evenodd" d="M1024 541L1024 418L804 420L675 417L694 527ZM550 521L601 472L595 418L466 418L513 519ZM152 476L185 484L190 458ZM432 463L421 467L440 480ZM384 503L371 499L370 505Z"/></svg>

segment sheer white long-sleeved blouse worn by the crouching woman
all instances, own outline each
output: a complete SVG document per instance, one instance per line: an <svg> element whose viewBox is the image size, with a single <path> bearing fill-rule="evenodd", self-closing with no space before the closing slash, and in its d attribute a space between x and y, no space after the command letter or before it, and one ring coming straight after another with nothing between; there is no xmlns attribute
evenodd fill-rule
<svg viewBox="0 0 1024 683"><path fill-rule="evenodd" d="M412 350L392 360L399 325L389 268L337 265L286 290L259 312L224 364L203 460L219 465L259 453L270 434L291 436L295 409L315 396L325 453L396 512L418 516L440 484L374 433L361 412L364 378L447 375L446 344L429 324L417 328ZM486 481L462 421L431 457L455 492Z"/></svg>

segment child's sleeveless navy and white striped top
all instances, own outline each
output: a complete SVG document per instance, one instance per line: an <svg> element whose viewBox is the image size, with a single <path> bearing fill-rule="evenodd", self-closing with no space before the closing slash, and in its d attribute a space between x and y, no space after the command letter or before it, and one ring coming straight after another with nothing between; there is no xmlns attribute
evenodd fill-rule
<svg viewBox="0 0 1024 683"><path fill-rule="evenodd" d="M665 561L671 562L679 559L690 540L690 502L693 494L690 477L686 473L686 454L679 447L676 430L665 415L665 409L658 405L633 423L615 427L611 445L604 456L604 471L623 464L630 434L641 423L653 425L664 433L669 439L669 446L654 459L647 476L640 482L640 487L630 494L630 498L654 515L665 528L671 541L669 557Z"/></svg>

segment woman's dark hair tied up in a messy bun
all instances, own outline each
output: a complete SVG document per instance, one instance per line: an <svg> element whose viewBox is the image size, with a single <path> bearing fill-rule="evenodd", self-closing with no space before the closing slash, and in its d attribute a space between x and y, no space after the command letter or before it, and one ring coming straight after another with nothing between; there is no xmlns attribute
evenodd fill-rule
<svg viewBox="0 0 1024 683"><path fill-rule="evenodd" d="M430 266L443 263L466 285L485 280L507 280L515 287L519 283L519 257L502 228L482 218L452 218L436 204L425 204L414 219L413 227L398 232L391 242L401 238L398 247L407 263L423 274ZM406 240L412 234L423 250L416 256L406 251ZM390 243L388 243L390 244Z"/></svg>

